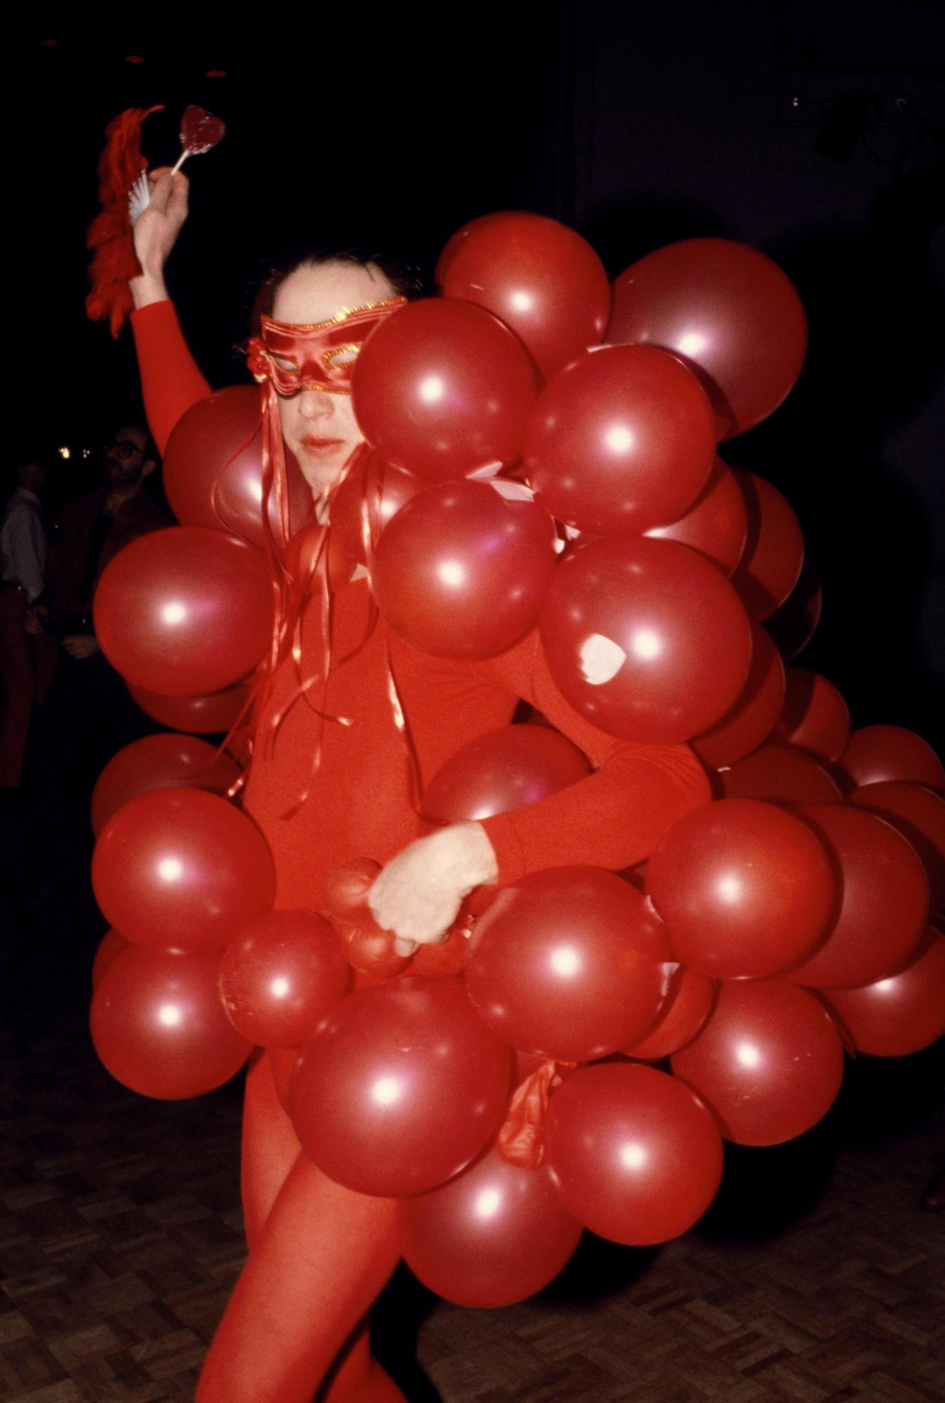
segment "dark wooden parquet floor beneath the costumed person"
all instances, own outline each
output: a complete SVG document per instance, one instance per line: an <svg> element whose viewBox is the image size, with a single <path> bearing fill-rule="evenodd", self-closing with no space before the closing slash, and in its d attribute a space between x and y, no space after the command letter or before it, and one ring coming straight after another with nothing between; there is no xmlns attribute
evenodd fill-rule
<svg viewBox="0 0 945 1403"><path fill-rule="evenodd" d="M0 1397L184 1403L243 1261L240 1086L178 1104L118 1086L86 1031L91 918L60 916L6 975ZM695 1230L648 1251L586 1236L523 1305L463 1310L398 1273L380 1357L411 1403L941 1403L945 1214L920 1198L944 1066L941 1045L862 1059L802 1141L730 1152Z"/></svg>

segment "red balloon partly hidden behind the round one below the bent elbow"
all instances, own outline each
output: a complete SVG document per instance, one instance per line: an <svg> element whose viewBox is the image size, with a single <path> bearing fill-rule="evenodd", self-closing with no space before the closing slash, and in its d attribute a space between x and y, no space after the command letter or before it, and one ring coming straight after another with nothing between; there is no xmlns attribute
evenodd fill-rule
<svg viewBox="0 0 945 1403"><path fill-rule="evenodd" d="M795 812L840 873L840 909L820 946L785 978L815 989L885 978L913 953L928 919L928 881L914 847L892 824L847 804Z"/></svg>

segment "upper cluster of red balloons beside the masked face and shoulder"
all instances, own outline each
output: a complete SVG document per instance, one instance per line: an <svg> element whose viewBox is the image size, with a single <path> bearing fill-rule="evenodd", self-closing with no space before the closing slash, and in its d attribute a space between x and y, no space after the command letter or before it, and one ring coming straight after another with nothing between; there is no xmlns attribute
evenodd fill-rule
<svg viewBox="0 0 945 1403"><path fill-rule="evenodd" d="M803 543L781 494L715 449L799 373L789 281L742 244L687 240L627 269L611 299L585 240L524 213L464 226L437 276L442 297L390 317L353 373L381 613L460 657L538 622L555 682L603 730L690 739L735 713L722 758L747 753L780 710L764 643L752 669L749 620L791 595ZM529 549L524 504L489 506L460 481L501 487L496 473L534 494ZM576 543L557 565L554 522L558 549ZM365 513L358 525L363 537Z"/></svg>

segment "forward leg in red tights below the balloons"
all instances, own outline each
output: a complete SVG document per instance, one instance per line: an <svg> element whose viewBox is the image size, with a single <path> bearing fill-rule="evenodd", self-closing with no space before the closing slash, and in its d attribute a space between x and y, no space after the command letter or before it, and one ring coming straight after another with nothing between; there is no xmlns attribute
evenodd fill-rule
<svg viewBox="0 0 945 1403"><path fill-rule="evenodd" d="M311 1403L348 1341L331 1403L401 1403L353 1338L398 1260L397 1200L342 1188L299 1155L213 1338L196 1403Z"/></svg>

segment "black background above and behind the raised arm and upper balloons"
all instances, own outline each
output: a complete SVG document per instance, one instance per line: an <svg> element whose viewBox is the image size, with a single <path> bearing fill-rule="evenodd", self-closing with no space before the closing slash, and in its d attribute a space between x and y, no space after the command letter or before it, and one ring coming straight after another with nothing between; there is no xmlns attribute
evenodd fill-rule
<svg viewBox="0 0 945 1403"><path fill-rule="evenodd" d="M798 511L824 586L799 659L854 724L945 749L945 11L937 0L545 0L439 7L32 6L7 42L14 438L79 485L140 415L128 330L83 311L95 161L122 108L151 163L189 102L227 122L188 163L170 269L213 384L280 247L372 240L432 264L491 209L575 224L611 274L674 239L771 254L810 318L787 404L725 448ZM130 62L140 60L140 62ZM212 74L217 76L212 76Z"/></svg>

